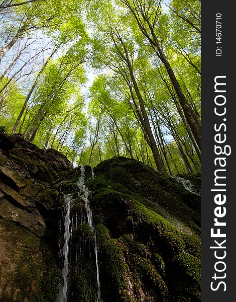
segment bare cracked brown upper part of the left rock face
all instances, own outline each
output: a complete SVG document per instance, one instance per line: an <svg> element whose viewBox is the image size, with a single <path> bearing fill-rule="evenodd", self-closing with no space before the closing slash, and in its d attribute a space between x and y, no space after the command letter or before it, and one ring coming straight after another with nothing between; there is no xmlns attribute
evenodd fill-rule
<svg viewBox="0 0 236 302"><path fill-rule="evenodd" d="M45 218L57 218L63 208L63 196L54 188L61 178L57 172L72 172L72 165L56 151L49 150L45 156L44 150L20 135L8 140L15 147L0 149L0 215L42 237ZM57 171L51 166L54 163L58 163Z"/></svg>

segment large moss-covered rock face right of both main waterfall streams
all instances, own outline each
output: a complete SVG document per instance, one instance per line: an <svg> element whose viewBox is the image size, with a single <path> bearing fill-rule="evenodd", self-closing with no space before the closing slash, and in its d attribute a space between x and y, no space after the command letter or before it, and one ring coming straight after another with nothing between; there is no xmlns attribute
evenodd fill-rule
<svg viewBox="0 0 236 302"><path fill-rule="evenodd" d="M200 197L123 157L94 172L103 301L200 301Z"/></svg>

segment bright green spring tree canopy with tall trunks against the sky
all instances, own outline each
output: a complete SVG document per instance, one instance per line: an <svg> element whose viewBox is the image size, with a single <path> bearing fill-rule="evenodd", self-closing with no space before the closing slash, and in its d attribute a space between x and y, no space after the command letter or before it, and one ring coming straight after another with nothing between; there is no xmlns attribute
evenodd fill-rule
<svg viewBox="0 0 236 302"><path fill-rule="evenodd" d="M199 0L3 0L0 130L78 165L200 171Z"/></svg>

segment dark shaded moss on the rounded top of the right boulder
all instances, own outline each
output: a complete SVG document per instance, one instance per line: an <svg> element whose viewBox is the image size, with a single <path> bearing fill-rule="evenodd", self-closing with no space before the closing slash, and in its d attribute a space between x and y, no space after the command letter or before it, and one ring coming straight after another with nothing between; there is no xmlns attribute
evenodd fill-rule
<svg viewBox="0 0 236 302"><path fill-rule="evenodd" d="M103 176L104 171L110 173L110 178L106 178L108 184L103 182L103 188L107 186L113 191L132 196L160 215L164 208L173 226L178 225L176 221L181 219L181 229L190 228L195 234L200 234L200 198L186 191L172 178L163 177L138 161L122 157L104 161L96 167L99 177ZM91 190L94 189L96 187L91 187Z"/></svg>

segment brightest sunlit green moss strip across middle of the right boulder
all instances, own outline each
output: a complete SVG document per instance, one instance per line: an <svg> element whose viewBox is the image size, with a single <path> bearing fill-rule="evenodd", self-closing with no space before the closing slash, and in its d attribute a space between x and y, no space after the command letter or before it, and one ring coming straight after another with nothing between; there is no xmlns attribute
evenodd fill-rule
<svg viewBox="0 0 236 302"><path fill-rule="evenodd" d="M100 212L107 209L108 204L112 204L114 208L118 203L123 203L129 209L130 214L127 215L126 220L128 222L129 217L132 217L134 229L138 231L136 233L140 240L150 238L153 244L161 242L162 249L168 257L174 257L176 254L184 252L185 241L182 239L181 233L174 229L161 215L147 209L141 202L132 199L127 194L107 188L97 190L93 197ZM188 242L189 247L191 246L190 242Z"/></svg>

